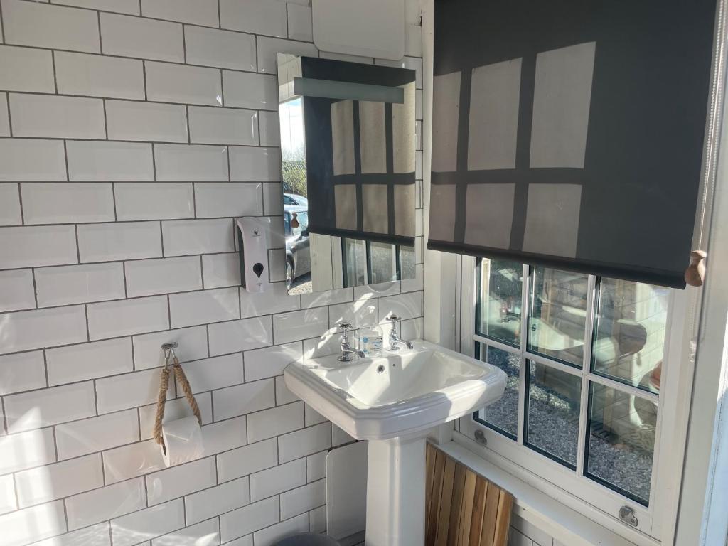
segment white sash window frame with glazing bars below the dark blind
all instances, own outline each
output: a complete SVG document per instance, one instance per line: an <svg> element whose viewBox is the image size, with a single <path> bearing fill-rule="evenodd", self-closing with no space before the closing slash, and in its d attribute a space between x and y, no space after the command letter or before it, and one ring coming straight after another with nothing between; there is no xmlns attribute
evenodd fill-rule
<svg viewBox="0 0 728 546"><path fill-rule="evenodd" d="M459 260L458 277L460 285L460 350L466 355L475 355L475 343L486 342L491 347L504 348L515 352L515 347L499 346L497 341L482 338L475 333L475 301L477 294L477 273L475 258L463 256ZM524 266L524 277L528 270ZM526 277L527 278L527 277ZM528 283L526 283L528 285ZM528 294L524 290L521 305L522 320L527 320L529 310ZM595 295L595 277L590 277L587 311L593 306ZM587 313L587 316L589 314ZM555 462L527 446L523 446L505 435L486 427L473 419L473 415L459 419L454 432L454 441L462 443L471 451L475 451L484 459L502 467L517 478L531 484L535 488L557 499L564 505L584 513L587 517L597 521L606 528L620 534L622 537L637 545L656 545L664 541L670 543L675 533L675 520L678 510L678 496L680 491L681 470L684 459L684 446L687 437L687 420L689 418L690 389L692 384L692 362L689 359L689 347L684 340L689 339L689 333L694 327L693 317L695 309L689 296L683 290L670 290L668 302L668 328L665 334L665 352L663 355L662 378L660 382L660 403L657 414L657 436L652 468L652 488L650 491L649 507L644 507L626 496L582 476L583 443L585 441L585 409L582 410L579 421L579 453L577 470L571 470ZM587 321L587 323L590 321ZM591 339L591 323L586 325L585 339ZM526 332L526 328L521 328ZM588 334L588 335L587 335ZM524 347L524 344L521 344ZM519 349L522 358L543 361L539 355L533 355L524 349ZM588 359L588 360L587 360ZM568 373L576 373L585 379L614 386L617 381L589 374L590 347L585 350L584 369L571 368L568 365L558 366L553 360L547 359L549 365L563 369ZM681 362L686 365L681 365ZM569 369L566 369L569 368ZM523 366L521 371L523 372ZM618 383L620 390L629 390L630 387ZM635 389L637 390L637 389ZM525 391L525 373L521 373L520 400L523 400ZM582 381L582 408L585 408L588 395L588 381ZM639 390L642 397L650 397L649 393ZM523 404L519 403L519 414L523 412ZM523 438L523 419L519 415L518 438ZM665 426L670 424L670 426ZM474 440L475 432L483 432L487 446L482 446ZM637 528L628 526L617 518L622 506L628 506L635 512L638 519Z"/></svg>

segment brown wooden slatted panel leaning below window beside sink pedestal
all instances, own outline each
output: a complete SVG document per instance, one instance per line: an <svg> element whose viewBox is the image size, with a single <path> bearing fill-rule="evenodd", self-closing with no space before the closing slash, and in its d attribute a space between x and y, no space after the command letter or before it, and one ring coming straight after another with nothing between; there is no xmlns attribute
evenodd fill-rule
<svg viewBox="0 0 728 546"><path fill-rule="evenodd" d="M427 446L425 544L505 546L513 496Z"/></svg>

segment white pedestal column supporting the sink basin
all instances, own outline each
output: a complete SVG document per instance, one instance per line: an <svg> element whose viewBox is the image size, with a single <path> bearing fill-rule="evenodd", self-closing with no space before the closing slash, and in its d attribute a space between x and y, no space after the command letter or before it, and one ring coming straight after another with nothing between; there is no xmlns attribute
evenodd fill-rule
<svg viewBox="0 0 728 546"><path fill-rule="evenodd" d="M424 545L425 436L369 440L366 546Z"/></svg>

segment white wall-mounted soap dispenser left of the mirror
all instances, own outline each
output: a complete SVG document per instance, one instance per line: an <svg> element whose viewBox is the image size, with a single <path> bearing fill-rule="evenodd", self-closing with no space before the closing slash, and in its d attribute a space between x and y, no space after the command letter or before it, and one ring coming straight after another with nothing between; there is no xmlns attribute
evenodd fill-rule
<svg viewBox="0 0 728 546"><path fill-rule="evenodd" d="M268 234L271 219L245 216L237 218L237 246L240 249L240 280L248 292L268 289Z"/></svg>

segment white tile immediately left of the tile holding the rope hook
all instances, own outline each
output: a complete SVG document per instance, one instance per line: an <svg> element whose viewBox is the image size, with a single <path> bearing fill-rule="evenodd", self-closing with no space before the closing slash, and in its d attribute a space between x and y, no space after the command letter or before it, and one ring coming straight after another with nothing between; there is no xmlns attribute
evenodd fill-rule
<svg viewBox="0 0 728 546"><path fill-rule="evenodd" d="M129 338L47 349L48 384L113 376L133 370Z"/></svg>

